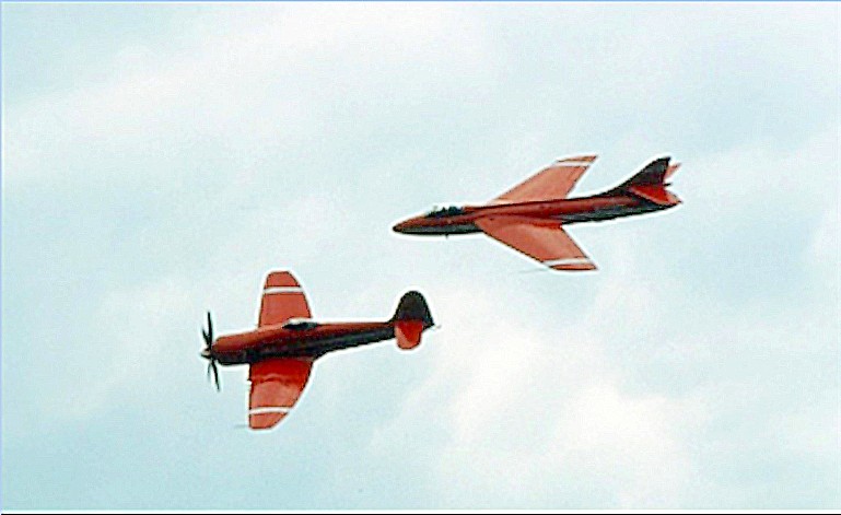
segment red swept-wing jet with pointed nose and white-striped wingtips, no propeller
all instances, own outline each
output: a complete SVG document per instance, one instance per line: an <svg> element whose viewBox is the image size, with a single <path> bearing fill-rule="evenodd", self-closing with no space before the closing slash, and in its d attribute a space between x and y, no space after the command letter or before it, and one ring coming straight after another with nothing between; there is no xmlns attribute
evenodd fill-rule
<svg viewBox="0 0 841 515"><path fill-rule="evenodd" d="M680 203L666 189L666 180L680 166L669 164L669 157L651 162L603 194L566 198L595 160L595 155L558 160L488 204L436 209L396 224L394 231L431 236L483 232L551 269L595 270L564 225L659 211Z"/></svg>

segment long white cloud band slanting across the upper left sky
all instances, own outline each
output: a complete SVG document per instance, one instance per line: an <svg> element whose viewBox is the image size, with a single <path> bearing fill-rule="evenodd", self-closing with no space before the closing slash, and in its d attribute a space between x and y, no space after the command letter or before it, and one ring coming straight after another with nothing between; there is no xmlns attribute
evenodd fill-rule
<svg viewBox="0 0 841 515"><path fill-rule="evenodd" d="M55 182L68 173L85 180L119 177L132 160L150 154L172 164L140 173L173 180L191 172L175 168L187 159L183 153L208 142L234 153L313 145L319 132L347 122L342 112L363 114L371 91L433 93L448 77L481 73L484 66L477 21L447 5L247 11L233 20L227 12L197 17L185 28L194 43L168 55L136 44L116 49L114 73L104 83L10 105L8 185ZM227 28L208 33L218 26ZM91 155L124 165L84 166ZM240 173L213 174L232 172Z"/></svg>

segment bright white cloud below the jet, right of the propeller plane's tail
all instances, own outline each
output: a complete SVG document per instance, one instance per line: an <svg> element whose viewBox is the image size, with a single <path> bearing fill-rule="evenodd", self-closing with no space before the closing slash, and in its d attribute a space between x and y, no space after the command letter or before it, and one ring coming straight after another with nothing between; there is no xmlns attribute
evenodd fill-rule
<svg viewBox="0 0 841 515"><path fill-rule="evenodd" d="M587 323L558 333L523 308L509 305L501 317L505 301L487 290L448 291L436 304L462 321L434 335L428 381L374 434L372 449L394 450L406 426L448 421L446 444L424 457L442 506L568 505L559 492L574 495L588 481L614 484L616 496L579 496L579 505L679 501L691 465L682 437L701 414L663 395L626 391Z"/></svg>

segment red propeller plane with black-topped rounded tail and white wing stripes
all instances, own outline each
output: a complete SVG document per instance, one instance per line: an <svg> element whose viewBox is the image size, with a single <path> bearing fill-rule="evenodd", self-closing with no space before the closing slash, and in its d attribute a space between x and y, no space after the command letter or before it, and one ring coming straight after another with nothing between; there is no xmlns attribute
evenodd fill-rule
<svg viewBox="0 0 841 515"><path fill-rule="evenodd" d="M394 316L385 321L318 323L309 318L309 306L297 280L288 271L266 278L257 329L213 339L208 312L208 329L201 330L209 360L208 378L219 385L217 363L247 364L252 383L248 426L273 428L295 405L306 386L313 362L341 349L397 339L400 349L420 344L421 335L434 325L427 301L416 291L406 293Z"/></svg>

